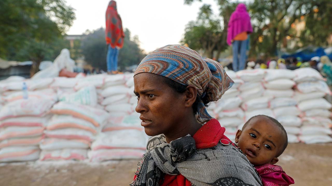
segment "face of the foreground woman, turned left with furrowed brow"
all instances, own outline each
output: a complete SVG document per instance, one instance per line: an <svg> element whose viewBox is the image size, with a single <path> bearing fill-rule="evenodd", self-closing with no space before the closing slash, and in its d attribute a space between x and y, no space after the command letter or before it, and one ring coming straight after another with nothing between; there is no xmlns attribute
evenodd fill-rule
<svg viewBox="0 0 332 186"><path fill-rule="evenodd" d="M135 110L149 136L176 132L186 114L186 96L169 87L163 78L146 72L134 76Z"/></svg>

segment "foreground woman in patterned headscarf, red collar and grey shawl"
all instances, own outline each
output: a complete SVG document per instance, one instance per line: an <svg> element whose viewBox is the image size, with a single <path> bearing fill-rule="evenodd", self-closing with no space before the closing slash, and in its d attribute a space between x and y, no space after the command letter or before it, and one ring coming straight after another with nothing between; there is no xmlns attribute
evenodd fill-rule
<svg viewBox="0 0 332 186"><path fill-rule="evenodd" d="M145 133L155 137L130 185L261 185L206 110L232 84L219 63L186 46L168 45L147 55L134 73L135 110Z"/></svg>

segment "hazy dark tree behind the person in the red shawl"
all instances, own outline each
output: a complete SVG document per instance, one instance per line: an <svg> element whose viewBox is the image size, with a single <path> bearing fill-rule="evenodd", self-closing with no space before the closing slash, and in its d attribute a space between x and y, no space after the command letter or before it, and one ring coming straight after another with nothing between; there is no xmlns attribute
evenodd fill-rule
<svg viewBox="0 0 332 186"><path fill-rule="evenodd" d="M120 69L124 67L139 64L145 57L139 48L139 40L137 36L131 38L130 31L124 30L124 46L119 51L118 66ZM103 70L107 70L106 56L108 47L105 41L105 29L99 28L94 31L87 31L82 40L82 54L85 61L91 66Z"/></svg>

